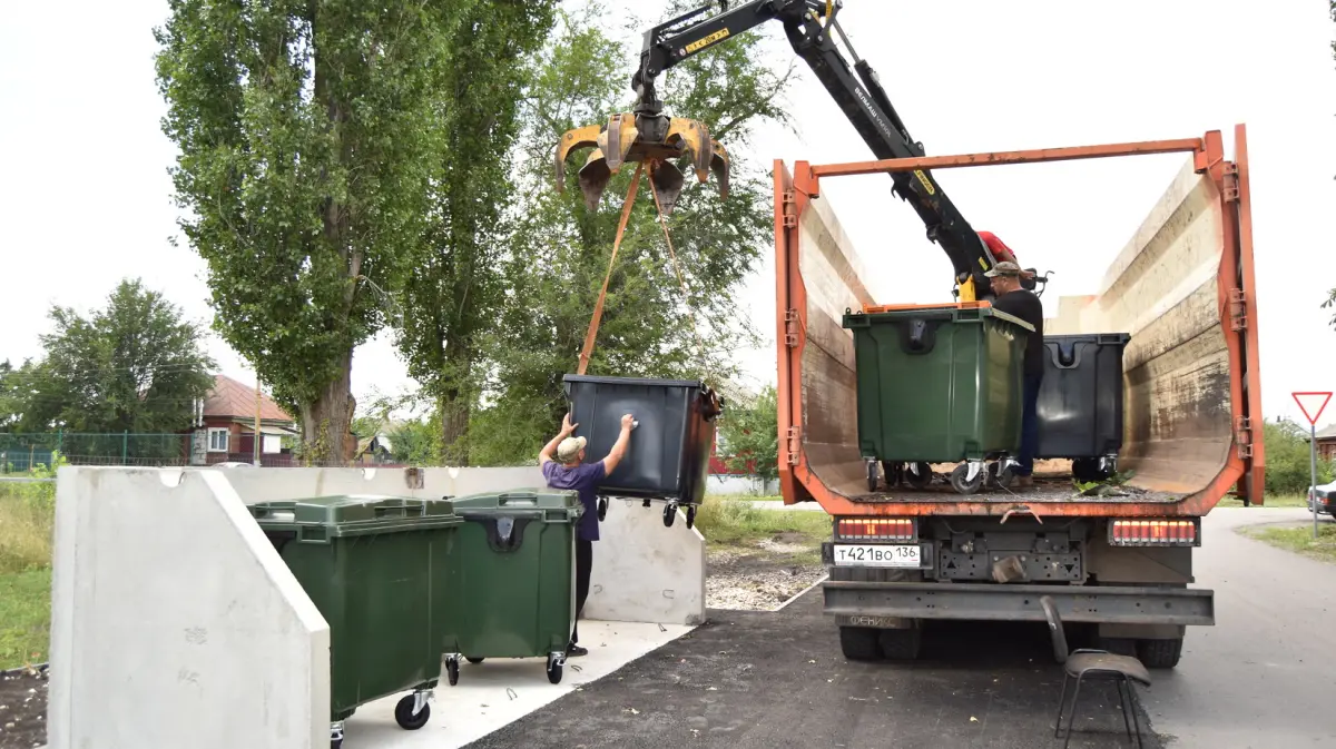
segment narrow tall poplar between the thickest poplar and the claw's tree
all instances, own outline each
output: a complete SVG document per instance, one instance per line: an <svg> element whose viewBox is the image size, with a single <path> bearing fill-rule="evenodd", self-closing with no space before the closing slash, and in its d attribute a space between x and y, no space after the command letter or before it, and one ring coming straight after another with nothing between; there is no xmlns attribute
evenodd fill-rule
<svg viewBox="0 0 1336 749"><path fill-rule="evenodd" d="M478 395L478 335L504 294L498 267L512 202L509 155L533 56L552 29L554 0L481 0L442 64L445 151L432 180L433 224L401 296L398 344L409 374L436 401L448 462L468 462ZM421 441L417 441L421 442Z"/></svg>

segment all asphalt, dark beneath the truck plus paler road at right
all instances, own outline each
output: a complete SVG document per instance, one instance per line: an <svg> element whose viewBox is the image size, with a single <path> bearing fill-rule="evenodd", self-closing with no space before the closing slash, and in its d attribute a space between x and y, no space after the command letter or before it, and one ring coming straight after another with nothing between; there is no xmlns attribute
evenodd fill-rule
<svg viewBox="0 0 1336 749"><path fill-rule="evenodd" d="M1336 746L1336 566L1233 530L1303 517L1208 515L1197 585L1214 587L1218 623L1189 628L1178 669L1138 688L1145 746ZM1061 746L1062 672L1043 625L934 622L919 661L858 664L840 654L820 602L816 589L778 613L711 611L691 634L469 746ZM1116 692L1089 692L1071 746L1126 745Z"/></svg>

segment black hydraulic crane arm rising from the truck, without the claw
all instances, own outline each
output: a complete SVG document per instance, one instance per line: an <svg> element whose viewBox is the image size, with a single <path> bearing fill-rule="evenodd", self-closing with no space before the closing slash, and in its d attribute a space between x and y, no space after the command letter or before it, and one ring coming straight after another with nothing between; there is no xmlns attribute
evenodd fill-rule
<svg viewBox="0 0 1336 749"><path fill-rule="evenodd" d="M711 13L719 5L720 11ZM677 16L645 32L640 68L632 76L637 93L636 115L659 116L663 101L655 91L659 73L727 39L744 33L766 21L784 24L784 33L807 65L816 73L826 91L839 104L844 116L878 159L923 156L923 144L910 138L908 130L891 105L876 72L859 60L844 32L835 21L839 0L751 0L748 3L712 3ZM831 32L844 41L855 64L851 68L840 53ZM946 251L955 271L957 294L962 302L991 298L983 272L997 262L989 247L965 220L961 211L927 170L892 174L894 192L907 200L927 227L927 236ZM1033 288L1033 278L1025 283Z"/></svg>

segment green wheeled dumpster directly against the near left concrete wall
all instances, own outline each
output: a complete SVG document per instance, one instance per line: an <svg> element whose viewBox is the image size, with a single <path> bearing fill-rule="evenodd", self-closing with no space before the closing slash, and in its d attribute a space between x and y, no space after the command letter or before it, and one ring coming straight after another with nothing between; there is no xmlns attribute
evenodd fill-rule
<svg viewBox="0 0 1336 749"><path fill-rule="evenodd" d="M330 626L331 745L366 702L411 692L394 710L409 730L430 716L461 519L450 502L315 497L250 507Z"/></svg>

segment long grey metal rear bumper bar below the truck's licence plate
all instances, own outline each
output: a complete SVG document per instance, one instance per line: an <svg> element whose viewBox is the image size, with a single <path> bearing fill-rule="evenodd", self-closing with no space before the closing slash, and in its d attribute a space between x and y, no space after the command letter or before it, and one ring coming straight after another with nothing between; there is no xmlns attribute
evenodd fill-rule
<svg viewBox="0 0 1336 749"><path fill-rule="evenodd" d="M1065 622L1216 623L1216 591L1186 587L826 581L822 593L827 614L856 626L883 626L880 618L890 628L907 618L1043 621L1041 595Z"/></svg>

